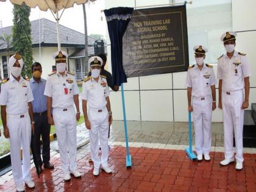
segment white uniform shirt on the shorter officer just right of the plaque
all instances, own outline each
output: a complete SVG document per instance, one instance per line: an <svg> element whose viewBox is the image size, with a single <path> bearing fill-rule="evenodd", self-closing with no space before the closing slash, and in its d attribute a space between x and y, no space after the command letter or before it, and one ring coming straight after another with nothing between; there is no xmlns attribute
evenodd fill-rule
<svg viewBox="0 0 256 192"><path fill-rule="evenodd" d="M194 65L188 69L186 87L192 87L192 96L204 97L212 94L211 86L216 84L213 68L203 64L203 68Z"/></svg>

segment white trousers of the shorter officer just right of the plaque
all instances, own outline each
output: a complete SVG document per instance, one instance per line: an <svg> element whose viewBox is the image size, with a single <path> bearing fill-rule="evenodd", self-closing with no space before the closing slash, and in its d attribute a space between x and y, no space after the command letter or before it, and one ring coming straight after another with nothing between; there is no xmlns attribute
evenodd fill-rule
<svg viewBox="0 0 256 192"><path fill-rule="evenodd" d="M203 97L202 97L203 98ZM208 155L212 145L212 96L193 97L193 119L196 153Z"/></svg>

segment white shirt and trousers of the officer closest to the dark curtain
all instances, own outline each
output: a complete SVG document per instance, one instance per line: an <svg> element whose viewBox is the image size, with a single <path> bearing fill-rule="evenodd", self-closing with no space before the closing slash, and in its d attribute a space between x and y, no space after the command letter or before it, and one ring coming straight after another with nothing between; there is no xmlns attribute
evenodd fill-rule
<svg viewBox="0 0 256 192"><path fill-rule="evenodd" d="M100 165L106 167L108 159L108 111L107 101L109 96L107 80L99 77L96 82L92 77L83 82L82 99L87 101L88 120L91 124L90 152L94 168ZM101 143L101 160L99 160L99 141Z"/></svg>

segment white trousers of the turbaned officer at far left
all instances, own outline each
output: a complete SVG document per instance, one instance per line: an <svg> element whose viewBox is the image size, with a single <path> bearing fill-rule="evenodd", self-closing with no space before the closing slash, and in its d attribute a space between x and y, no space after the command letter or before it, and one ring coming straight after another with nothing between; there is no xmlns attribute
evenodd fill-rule
<svg viewBox="0 0 256 192"><path fill-rule="evenodd" d="M31 124L27 112L23 118L20 115L8 115L7 127L10 133L10 155L12 163L12 174L16 187L23 181L31 179L30 176L30 140ZM23 160L21 166L21 147L23 149Z"/></svg>

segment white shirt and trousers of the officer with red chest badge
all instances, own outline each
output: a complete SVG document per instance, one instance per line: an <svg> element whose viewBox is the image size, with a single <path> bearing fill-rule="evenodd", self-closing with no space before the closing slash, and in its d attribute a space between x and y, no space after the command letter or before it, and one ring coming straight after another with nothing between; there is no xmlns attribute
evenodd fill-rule
<svg viewBox="0 0 256 192"><path fill-rule="evenodd" d="M65 94L65 88L68 91L67 94ZM76 111L73 98L76 94L79 94L79 90L73 74L66 71L64 76L58 72L49 75L44 95L52 98L52 116L64 174L69 171L69 168L71 171L77 169Z"/></svg>

